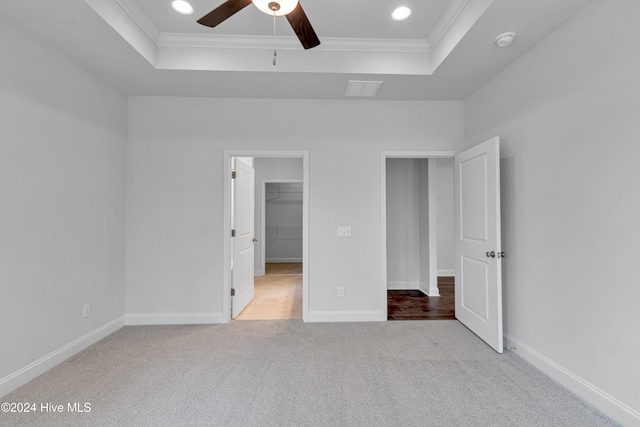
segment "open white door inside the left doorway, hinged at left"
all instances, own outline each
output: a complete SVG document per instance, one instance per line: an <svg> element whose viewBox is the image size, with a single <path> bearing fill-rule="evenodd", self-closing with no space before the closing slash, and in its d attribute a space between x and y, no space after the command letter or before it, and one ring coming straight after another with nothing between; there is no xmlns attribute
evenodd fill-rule
<svg viewBox="0 0 640 427"><path fill-rule="evenodd" d="M235 159L233 178L233 271L231 275L231 317L236 318L253 299L253 168Z"/></svg>

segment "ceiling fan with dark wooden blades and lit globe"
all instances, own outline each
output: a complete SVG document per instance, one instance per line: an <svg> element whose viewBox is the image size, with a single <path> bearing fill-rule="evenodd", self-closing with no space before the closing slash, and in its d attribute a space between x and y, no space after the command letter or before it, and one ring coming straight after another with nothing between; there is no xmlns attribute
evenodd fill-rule
<svg viewBox="0 0 640 427"><path fill-rule="evenodd" d="M227 0L220 6L198 20L198 24L215 27L227 18L241 11L249 4L255 4L262 12L272 16L285 15L293 31L300 39L305 49L311 49L320 44L320 39L313 30L307 15L302 10L298 0ZM275 18L274 18L275 19Z"/></svg>

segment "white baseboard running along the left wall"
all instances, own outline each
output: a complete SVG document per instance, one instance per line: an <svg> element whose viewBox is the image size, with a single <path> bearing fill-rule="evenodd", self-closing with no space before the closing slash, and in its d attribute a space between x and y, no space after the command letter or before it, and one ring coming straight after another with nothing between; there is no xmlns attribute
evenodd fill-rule
<svg viewBox="0 0 640 427"><path fill-rule="evenodd" d="M44 374L54 366L64 362L71 356L81 352L85 348L111 335L124 326L124 316L120 316L111 322L71 341L69 344L52 351L17 371L0 379L0 396L11 393L18 387L28 383L39 375Z"/></svg>

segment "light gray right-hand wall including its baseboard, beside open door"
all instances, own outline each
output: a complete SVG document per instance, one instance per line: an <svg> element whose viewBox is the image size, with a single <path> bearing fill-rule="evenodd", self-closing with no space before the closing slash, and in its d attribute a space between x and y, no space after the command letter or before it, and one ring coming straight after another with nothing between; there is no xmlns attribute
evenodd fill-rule
<svg viewBox="0 0 640 427"><path fill-rule="evenodd" d="M468 146L502 138L508 342L625 425L640 425L638 16L594 1L465 104Z"/></svg>

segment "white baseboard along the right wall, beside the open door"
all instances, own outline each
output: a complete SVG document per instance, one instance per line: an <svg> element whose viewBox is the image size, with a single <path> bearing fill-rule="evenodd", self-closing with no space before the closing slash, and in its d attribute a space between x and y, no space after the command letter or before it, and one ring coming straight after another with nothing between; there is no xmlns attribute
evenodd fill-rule
<svg viewBox="0 0 640 427"><path fill-rule="evenodd" d="M622 403L522 341L504 334L505 347L624 426L640 426L640 411Z"/></svg>

